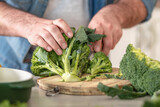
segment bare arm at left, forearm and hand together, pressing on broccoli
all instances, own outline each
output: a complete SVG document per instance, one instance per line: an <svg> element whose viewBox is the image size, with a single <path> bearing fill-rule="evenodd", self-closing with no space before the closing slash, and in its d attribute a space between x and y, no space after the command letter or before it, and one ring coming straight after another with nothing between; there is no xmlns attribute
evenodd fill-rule
<svg viewBox="0 0 160 107"><path fill-rule="evenodd" d="M24 37L32 45L47 51L54 50L58 55L62 54L62 49L67 48L61 33L64 32L69 38L73 36L70 27L62 19L39 18L3 2L0 2L0 13L0 35Z"/></svg>

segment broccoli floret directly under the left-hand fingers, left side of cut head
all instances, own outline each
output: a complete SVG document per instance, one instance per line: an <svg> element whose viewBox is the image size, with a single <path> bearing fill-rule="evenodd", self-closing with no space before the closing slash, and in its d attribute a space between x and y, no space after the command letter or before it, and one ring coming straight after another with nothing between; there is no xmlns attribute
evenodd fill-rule
<svg viewBox="0 0 160 107"><path fill-rule="evenodd" d="M58 55L54 52L47 52L41 47L37 47L32 56L32 73L36 76L50 76L58 74L62 76L64 72L58 65ZM54 71L54 72L51 72Z"/></svg>

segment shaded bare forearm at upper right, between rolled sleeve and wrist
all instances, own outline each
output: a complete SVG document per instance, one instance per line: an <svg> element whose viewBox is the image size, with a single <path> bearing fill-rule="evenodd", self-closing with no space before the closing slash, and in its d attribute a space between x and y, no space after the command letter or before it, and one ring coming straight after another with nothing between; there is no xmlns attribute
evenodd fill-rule
<svg viewBox="0 0 160 107"><path fill-rule="evenodd" d="M122 28L134 26L147 16L147 10L141 0L118 0L115 4L106 6L104 9L115 13L114 15Z"/></svg>

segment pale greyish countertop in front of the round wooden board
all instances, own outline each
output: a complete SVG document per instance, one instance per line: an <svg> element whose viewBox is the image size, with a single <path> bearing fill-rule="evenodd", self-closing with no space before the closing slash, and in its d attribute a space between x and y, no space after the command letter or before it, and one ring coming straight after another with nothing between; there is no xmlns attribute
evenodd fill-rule
<svg viewBox="0 0 160 107"><path fill-rule="evenodd" d="M36 79L35 79L36 81ZM149 96L133 100L121 100L110 96L76 96L58 94L52 97L45 95L46 91L38 85L32 88L28 107L142 107Z"/></svg>

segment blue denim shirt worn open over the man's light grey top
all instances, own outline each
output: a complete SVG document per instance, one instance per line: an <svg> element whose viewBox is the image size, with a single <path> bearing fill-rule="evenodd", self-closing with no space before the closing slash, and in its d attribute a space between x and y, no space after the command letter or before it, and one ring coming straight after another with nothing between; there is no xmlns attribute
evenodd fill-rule
<svg viewBox="0 0 160 107"><path fill-rule="evenodd" d="M42 17L48 4L48 0L0 0L20 10ZM90 18L102 7L113 3L114 0L89 0ZM148 20L157 0L142 0L147 9ZM30 71L30 63L24 63L31 44L21 37L0 36L0 64L3 67Z"/></svg>

